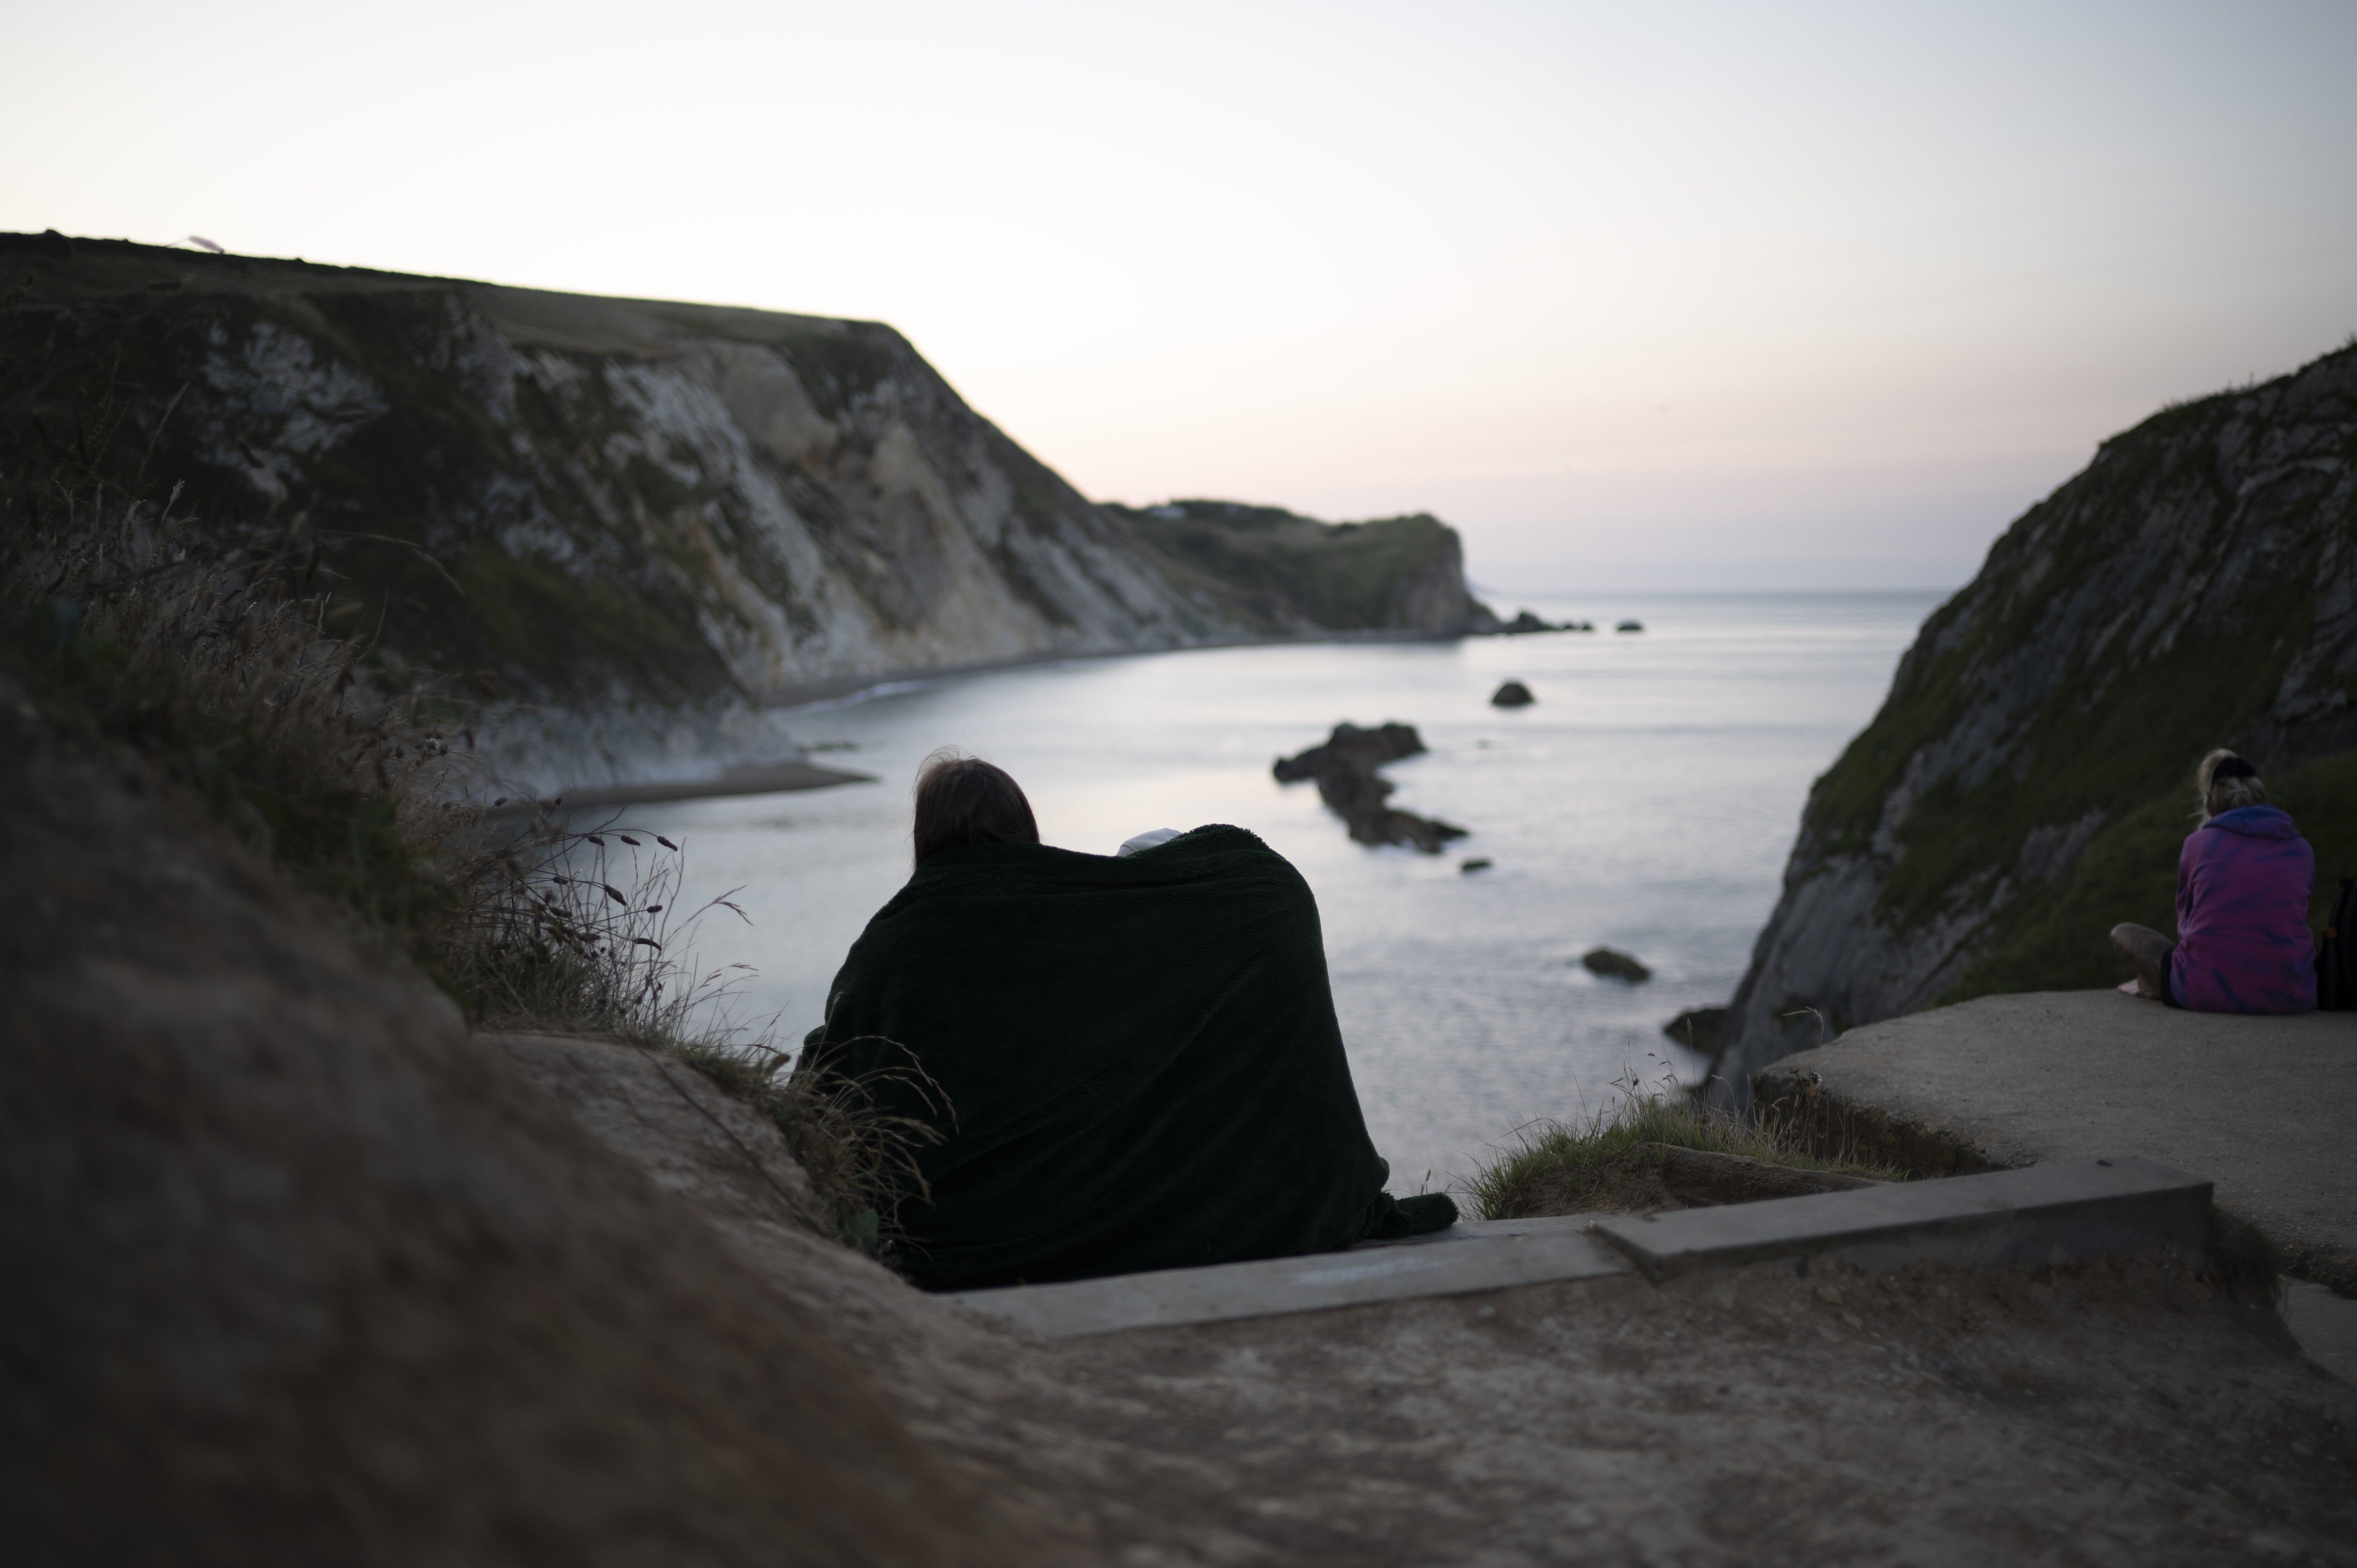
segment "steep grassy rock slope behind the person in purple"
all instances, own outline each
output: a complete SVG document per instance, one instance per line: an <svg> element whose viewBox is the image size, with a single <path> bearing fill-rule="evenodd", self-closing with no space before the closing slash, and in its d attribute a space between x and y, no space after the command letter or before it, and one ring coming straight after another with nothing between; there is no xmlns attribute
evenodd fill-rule
<svg viewBox="0 0 2357 1568"><path fill-rule="evenodd" d="M2121 979L2173 929L2192 769L2258 762L2357 872L2357 349L2105 441L1926 620L1810 790L1718 1092L1933 1002Z"/></svg>

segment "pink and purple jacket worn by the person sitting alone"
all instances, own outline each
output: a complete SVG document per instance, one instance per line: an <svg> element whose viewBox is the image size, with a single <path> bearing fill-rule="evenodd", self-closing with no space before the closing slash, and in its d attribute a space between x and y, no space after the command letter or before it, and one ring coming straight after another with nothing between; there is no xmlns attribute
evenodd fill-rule
<svg viewBox="0 0 2357 1568"><path fill-rule="evenodd" d="M2178 856L2178 950L2168 955L2178 1007L2315 1009L2315 887L2317 851L2275 806L2234 806L2201 823Z"/></svg>

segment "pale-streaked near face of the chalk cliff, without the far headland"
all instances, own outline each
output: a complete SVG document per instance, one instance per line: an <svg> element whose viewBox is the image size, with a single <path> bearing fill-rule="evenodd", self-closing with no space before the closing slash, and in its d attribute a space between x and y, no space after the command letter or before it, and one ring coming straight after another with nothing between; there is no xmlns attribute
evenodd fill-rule
<svg viewBox="0 0 2357 1568"><path fill-rule="evenodd" d="M1249 630L891 328L243 266L153 304L160 462L316 531L415 663L761 703Z"/></svg>

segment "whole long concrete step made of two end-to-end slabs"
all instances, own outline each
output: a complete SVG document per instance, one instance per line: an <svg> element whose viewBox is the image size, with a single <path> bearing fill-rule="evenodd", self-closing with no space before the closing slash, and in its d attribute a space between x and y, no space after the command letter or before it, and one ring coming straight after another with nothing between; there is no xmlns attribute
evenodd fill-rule
<svg viewBox="0 0 2357 1568"><path fill-rule="evenodd" d="M2055 1264L2185 1247L2209 1238L2209 1181L2133 1155L2069 1160L1945 1181L1775 1198L1669 1214L1464 1221L1433 1236L1211 1269L1061 1285L969 1290L952 1299L1047 1339L1230 1318L1334 1311L1643 1271L1841 1257L1867 1269Z"/></svg>

